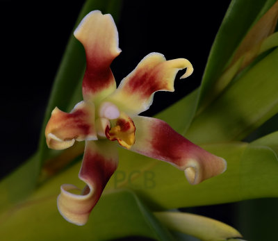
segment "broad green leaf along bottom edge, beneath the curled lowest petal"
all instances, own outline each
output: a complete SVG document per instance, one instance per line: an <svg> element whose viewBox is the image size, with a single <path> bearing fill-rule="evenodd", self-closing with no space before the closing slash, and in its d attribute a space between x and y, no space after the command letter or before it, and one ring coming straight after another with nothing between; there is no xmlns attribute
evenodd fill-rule
<svg viewBox="0 0 278 241"><path fill-rule="evenodd" d="M54 184L48 183L51 195L38 199L35 194L0 217L2 240L111 240L131 235L172 240L167 229L128 190L101 197L85 226L70 224L58 213ZM38 193L43 194L43 189Z"/></svg>

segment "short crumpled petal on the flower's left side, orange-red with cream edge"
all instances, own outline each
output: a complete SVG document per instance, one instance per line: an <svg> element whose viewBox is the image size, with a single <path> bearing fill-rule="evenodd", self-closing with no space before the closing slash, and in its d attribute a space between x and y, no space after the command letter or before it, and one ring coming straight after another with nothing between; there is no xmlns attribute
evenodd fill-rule
<svg viewBox="0 0 278 241"><path fill-rule="evenodd" d="M81 101L71 113L56 107L45 128L45 137L47 146L56 150L72 147L75 140L97 140L94 104Z"/></svg>

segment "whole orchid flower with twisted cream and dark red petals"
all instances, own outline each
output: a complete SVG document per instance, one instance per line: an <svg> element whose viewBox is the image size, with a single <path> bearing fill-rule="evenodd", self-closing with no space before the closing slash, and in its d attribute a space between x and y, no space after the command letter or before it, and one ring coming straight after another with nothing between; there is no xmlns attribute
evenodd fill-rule
<svg viewBox="0 0 278 241"><path fill-rule="evenodd" d="M66 149L75 140L85 140L79 178L86 186L81 194L74 194L70 191L78 188L64 184L58 196L58 210L68 222L87 222L117 168L118 144L174 165L185 172L191 184L224 172L223 158L183 138L160 119L138 116L152 105L154 92L174 91L174 78L180 69L186 69L181 78L192 74L188 60L165 60L161 53L149 53L116 88L110 65L121 50L111 15L102 15L99 10L88 13L74 36L83 44L87 60L83 101L70 113L54 108L45 129L51 149Z"/></svg>

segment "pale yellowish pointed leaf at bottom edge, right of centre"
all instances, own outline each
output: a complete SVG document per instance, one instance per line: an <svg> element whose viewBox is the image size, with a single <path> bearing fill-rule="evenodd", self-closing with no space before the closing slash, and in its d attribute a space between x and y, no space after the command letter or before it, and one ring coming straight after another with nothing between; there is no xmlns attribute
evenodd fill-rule
<svg viewBox="0 0 278 241"><path fill-rule="evenodd" d="M242 238L235 228L208 217L180 212L156 212L154 215L171 231L186 233L203 241Z"/></svg>

